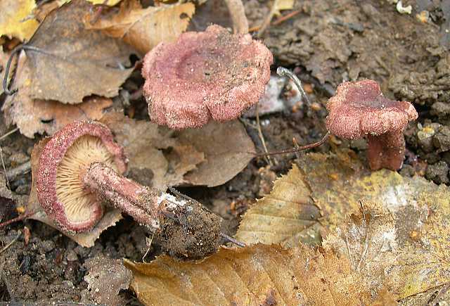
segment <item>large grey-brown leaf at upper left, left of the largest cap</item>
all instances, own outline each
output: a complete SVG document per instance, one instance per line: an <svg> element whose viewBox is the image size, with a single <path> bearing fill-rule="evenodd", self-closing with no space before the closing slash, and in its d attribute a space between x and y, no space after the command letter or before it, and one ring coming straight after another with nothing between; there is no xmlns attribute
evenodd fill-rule
<svg viewBox="0 0 450 306"><path fill-rule="evenodd" d="M30 67L30 97L62 103L82 103L85 96L116 96L133 68L131 46L82 22L92 6L72 0L51 11L25 52Z"/></svg>

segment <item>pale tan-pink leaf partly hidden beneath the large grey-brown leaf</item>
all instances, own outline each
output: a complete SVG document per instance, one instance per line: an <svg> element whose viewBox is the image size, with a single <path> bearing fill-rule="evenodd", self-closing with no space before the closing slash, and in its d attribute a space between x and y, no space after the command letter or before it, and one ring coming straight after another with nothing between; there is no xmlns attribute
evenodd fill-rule
<svg viewBox="0 0 450 306"><path fill-rule="evenodd" d="M58 101L33 100L30 98L32 77L25 54L19 58L12 89L18 89L8 96L2 107L7 125L15 124L23 135L34 138L35 133L53 134L75 120L98 120L103 110L110 107L110 98L90 96L77 105L62 104Z"/></svg>

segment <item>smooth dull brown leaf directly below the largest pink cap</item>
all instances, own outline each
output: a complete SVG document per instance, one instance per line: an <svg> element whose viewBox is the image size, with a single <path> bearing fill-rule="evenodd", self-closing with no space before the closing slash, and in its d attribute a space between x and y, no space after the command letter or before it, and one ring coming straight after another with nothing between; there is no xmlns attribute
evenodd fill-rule
<svg viewBox="0 0 450 306"><path fill-rule="evenodd" d="M205 153L205 162L185 175L191 185L219 186L236 176L255 157L255 144L238 120L212 121L201 129L184 129L179 142Z"/></svg>

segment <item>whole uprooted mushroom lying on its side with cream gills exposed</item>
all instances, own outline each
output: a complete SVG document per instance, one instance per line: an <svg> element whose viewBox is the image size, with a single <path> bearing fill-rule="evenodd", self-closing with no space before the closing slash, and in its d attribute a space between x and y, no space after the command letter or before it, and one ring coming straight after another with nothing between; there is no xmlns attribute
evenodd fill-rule
<svg viewBox="0 0 450 306"><path fill-rule="evenodd" d="M63 231L89 231L110 205L146 225L173 255L212 253L221 238L221 218L191 198L127 179L123 148L99 122L73 122L56 132L39 157L37 197ZM175 243L174 243L175 241Z"/></svg>

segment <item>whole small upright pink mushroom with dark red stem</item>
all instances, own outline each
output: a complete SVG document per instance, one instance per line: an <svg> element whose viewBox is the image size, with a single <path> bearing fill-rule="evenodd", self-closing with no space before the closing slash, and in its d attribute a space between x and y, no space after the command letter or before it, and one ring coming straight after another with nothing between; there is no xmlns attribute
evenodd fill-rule
<svg viewBox="0 0 450 306"><path fill-rule="evenodd" d="M399 170L405 155L403 131L418 114L406 101L391 101L371 79L345 82L326 106L326 125L331 134L358 139L367 136L368 162L372 170Z"/></svg>

